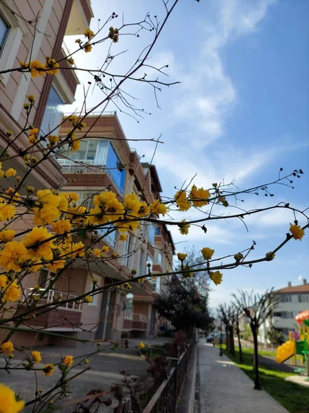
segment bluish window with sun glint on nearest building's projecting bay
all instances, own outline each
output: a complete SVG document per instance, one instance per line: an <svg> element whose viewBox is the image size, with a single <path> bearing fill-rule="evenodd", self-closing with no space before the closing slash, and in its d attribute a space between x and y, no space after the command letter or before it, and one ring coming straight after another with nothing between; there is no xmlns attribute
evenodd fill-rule
<svg viewBox="0 0 309 413"><path fill-rule="evenodd" d="M52 86L42 120L41 134L47 135L51 132L53 135L58 135L63 116L62 107L64 105L64 100L60 97L60 94L58 94L56 87ZM45 144L46 142L47 141L45 141Z"/></svg>

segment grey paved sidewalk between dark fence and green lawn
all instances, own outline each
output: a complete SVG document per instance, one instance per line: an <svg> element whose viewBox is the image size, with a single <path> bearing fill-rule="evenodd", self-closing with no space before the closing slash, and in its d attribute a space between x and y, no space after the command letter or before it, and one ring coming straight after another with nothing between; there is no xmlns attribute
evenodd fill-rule
<svg viewBox="0 0 309 413"><path fill-rule="evenodd" d="M219 356L218 348L198 343L201 413L288 413L264 391L253 390L253 381L233 361Z"/></svg>

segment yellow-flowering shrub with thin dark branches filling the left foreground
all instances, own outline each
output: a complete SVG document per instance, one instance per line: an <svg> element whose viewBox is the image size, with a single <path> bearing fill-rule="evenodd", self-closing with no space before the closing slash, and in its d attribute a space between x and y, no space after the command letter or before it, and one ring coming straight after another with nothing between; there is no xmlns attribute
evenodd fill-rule
<svg viewBox="0 0 309 413"><path fill-rule="evenodd" d="M156 30L153 28L154 23L152 23L149 15L145 21L135 23L139 30L148 27L149 31L154 30L156 32L152 46L155 45L161 28L165 25L176 3L177 1L174 1L162 25L158 21ZM115 17L116 15L113 13L107 22ZM88 54L95 48L95 44L102 43L102 41L109 41L111 45L121 43L119 39L124 34L124 28L127 28L128 25L123 24L119 28L111 26L106 30L108 26L105 27L104 24L98 32L93 32L90 29L85 30L84 41L76 39L77 50L74 53L82 51ZM105 30L104 38L98 39L101 30ZM135 33L135 35L138 34ZM148 264L148 271L144 274L139 273L137 275L137 270L133 269L130 271L130 276L126 276L126 279L113 279L109 284L100 285L98 278L91 272L91 268L98 266L99 271L104 273L102 268L106 268L109 264L113 265L111 262L126 257L119 256L117 251L111 251L105 244L106 237L117 233L121 242L126 242L128 235L130 235L142 243L147 243L147 240L144 240L139 233L141 229L145 230L149 224L154 222L166 226L176 225L179 227L181 235L184 236L190 233L192 226L197 226L206 233L205 223L207 221L219 219L244 220L248 215L264 211L264 209L256 209L254 211L222 215L222 207L225 211L230 211L229 200L233 199L236 193L252 194L264 191L267 194L268 188L272 185L286 182L286 180L293 177L300 178L303 173L301 169L295 169L286 176L279 176L277 180L267 184L267 186L262 184L237 192L233 191L229 184L205 182L204 187L201 188L190 184L187 187L176 189L174 195L172 194L164 200L159 198L157 193L152 193L152 202L146 202L144 191L139 191L139 193L133 191L122 196L107 186L97 191L93 199L89 200L87 204L84 200L79 199L76 192L65 191L62 187L51 188L47 181L45 185L38 184L36 176L42 167L54 165L55 158L65 157L64 153L67 153L67 151L70 153L80 151L82 140L87 138L87 134L91 130L90 127L87 129L85 120L93 110L113 101L113 98L120 98L121 100L123 98L122 83L127 79L146 81L145 78L135 78L135 74L147 61L152 46L149 51L137 59L137 64L121 80L117 81L118 75L108 75L108 78L111 79L108 86L103 83L106 76L104 70L95 70L95 73L98 73L95 75L93 71L89 70L95 84L99 85L101 90L106 91L106 96L100 104L92 107L91 110L87 111L86 105L84 105L80 115L71 114L68 116L65 120L69 123L70 130L64 136L58 136L55 131L43 134L40 130L41 125L30 123L30 116L34 114L36 100L38 100L33 94L27 96L27 103L23 105L23 115L26 119L25 126L21 128L19 133L13 134L12 131L6 131L6 146L0 151L0 330L5 332L0 344L0 353L5 362L3 370L6 372L16 368L16 365L12 362L16 332L23 332L23 328L27 326L30 330L32 329L36 333L39 332L40 335L53 335L53 332L49 330L48 321L38 329L31 326L31 320L41 315L47 315L52 311L59 313L61 307L64 306L66 308L71 308L70 306L73 306L72 308L75 308L75 306L78 308L89 306L90 308L94 304L95 298L103 292L128 292L133 286L141 285L152 279L152 265ZM71 54L61 60L56 60L55 57L45 56L45 62L36 59L30 59L28 62L21 61L19 67L12 67L3 72L20 72L22 76L30 74L33 81L38 81L41 76L57 76L65 68L64 60L71 65L74 64ZM108 54L107 60L111 60L112 57L111 54ZM73 67L67 67L67 70L71 69L73 70ZM78 70L78 68L75 69ZM157 87L157 80L147 82L152 87ZM165 83L165 85L170 84ZM77 160L76 162L78 163ZM18 167L13 167L15 164ZM124 165L123 167L128 169L128 166ZM21 175L18 175L18 173ZM37 187L32 186L33 182L37 182ZM201 218L197 220L184 218L176 221L172 219L174 211L186 212L193 209L201 211L205 207L209 209L202 211ZM177 257L181 262L181 267L172 272L156 273L156 276L178 275L178 281L185 284L185 279L190 279L193 273L203 271L207 273L207 277L214 282L214 285L218 286L224 281L224 275L221 271L273 260L277 251L287 242L290 242L291 239L301 240L304 237L308 224L301 227L296 216L302 216L306 219L308 217L306 210L299 211L291 207L290 204L276 204L269 207L269 209L288 209L295 216L295 222L290 224L289 232L282 243L279 246L274 246L273 251L265 253L260 259L250 260L249 254L254 248L253 245L241 252L236 250L233 255L225 257L219 257L216 255L216 251L211 249L211 245L207 245L201 250L200 268L192 268L186 262L187 254L179 252ZM16 222L19 224L23 222L23 229L16 226ZM137 251L138 248L134 248L129 255L134 255ZM172 255L171 251L167 253ZM66 271L69 269L76 271L77 268L87 268L91 276L91 285L85 287L85 290L82 293L77 293L76 296L70 294L70 287L62 291L63 294L53 295L59 280L63 281L65 279ZM46 271L48 274L47 279L44 279L43 282L39 280L39 271ZM24 288L26 282L34 279L36 281L32 284L31 292L26 294ZM181 284L177 288L181 288ZM193 304L191 310L194 313L200 313L196 311L194 306L201 304L203 299L195 290L191 299ZM207 303L204 300L202 304ZM76 325L73 324L73 327L76 327ZM80 341L87 342L89 340ZM141 342L139 348L143 348L143 346L144 343ZM42 360L41 353L38 351L27 352L25 350L19 367L25 370L25 374L31 371L35 373L39 371L49 378L53 376L55 370L60 372L59 381L51 385L49 390L36 389L34 398L27 401L27 405L34 405L33 411L35 412L37 409L39 412L51 407L55 401L67 397L71 391L69 381L72 377L78 377L84 371L81 370L81 372L79 371L70 376L71 370L88 364L91 355L101 349L101 344L98 343L97 350L91 354L74 358L71 355L61 356L58 363L50 363L48 359ZM41 361L44 363L43 366L41 366ZM159 359L151 365L150 370L156 380L161 380L166 374L167 368L165 360ZM109 399L100 399L100 403L109 405L110 401ZM24 405L25 402L16 398L12 389L6 385L0 385L0 410L3 409L2 406L5 406L5 413L19 412Z"/></svg>

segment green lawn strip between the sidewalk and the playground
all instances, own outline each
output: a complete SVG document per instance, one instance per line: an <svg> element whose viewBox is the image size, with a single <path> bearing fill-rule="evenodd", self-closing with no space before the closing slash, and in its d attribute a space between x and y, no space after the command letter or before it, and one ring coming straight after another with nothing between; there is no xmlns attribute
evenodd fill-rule
<svg viewBox="0 0 309 413"><path fill-rule="evenodd" d="M250 350L250 351L248 351ZM253 350L247 349L244 354L244 362L239 362L238 348L236 347L236 357L231 356L223 346L223 352L231 360L235 361L238 367L240 367L252 380L255 378L255 374L252 371L253 364ZM262 355L262 354L261 354ZM266 355L266 354L263 354ZM267 354L268 355L268 354ZM309 411L309 390L290 381L284 379L290 376L290 373L281 372L279 370L271 370L269 368L260 368L260 381L263 390L270 394L280 404L286 407L291 413L300 413ZM252 384L253 385L253 384ZM308 409L308 410L305 410Z"/></svg>

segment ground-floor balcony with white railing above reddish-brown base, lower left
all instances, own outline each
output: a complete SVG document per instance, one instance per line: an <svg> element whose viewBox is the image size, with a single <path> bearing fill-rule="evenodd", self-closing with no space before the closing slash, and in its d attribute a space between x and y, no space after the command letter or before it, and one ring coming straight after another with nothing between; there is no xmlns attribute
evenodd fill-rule
<svg viewBox="0 0 309 413"><path fill-rule="evenodd" d="M36 293L40 294L42 293L42 291L44 291L44 288L41 288ZM28 299L31 299L31 295L33 293L33 288L25 288L25 298L23 305L25 305ZM62 295L61 291L49 290L47 295L40 299L39 303L42 305L56 302L61 297L62 299L70 299L76 297L76 295ZM21 309L21 311L23 310ZM50 310L48 313L44 313L44 311L44 308L42 310L34 309L33 313L34 315L36 315L36 317L27 320L27 324L36 327L47 326L48 328L53 328L53 330L57 330L57 328L59 328L61 330L63 328L72 328L73 326L77 326L78 324L80 324L80 321L82 319L82 304L73 301L63 304L63 306L59 306L54 310Z"/></svg>

